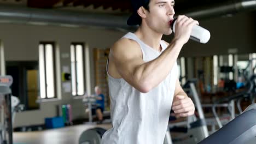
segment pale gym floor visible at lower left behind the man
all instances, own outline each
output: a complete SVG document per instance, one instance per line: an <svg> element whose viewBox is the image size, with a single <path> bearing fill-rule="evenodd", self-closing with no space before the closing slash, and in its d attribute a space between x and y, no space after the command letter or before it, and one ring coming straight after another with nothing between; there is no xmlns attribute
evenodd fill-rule
<svg viewBox="0 0 256 144"><path fill-rule="evenodd" d="M80 134L84 130L101 127L110 129L111 124L100 125L75 125L72 127L65 127L52 130L31 131L31 132L15 132L13 134L14 144L63 144L63 143L78 143Z"/></svg>

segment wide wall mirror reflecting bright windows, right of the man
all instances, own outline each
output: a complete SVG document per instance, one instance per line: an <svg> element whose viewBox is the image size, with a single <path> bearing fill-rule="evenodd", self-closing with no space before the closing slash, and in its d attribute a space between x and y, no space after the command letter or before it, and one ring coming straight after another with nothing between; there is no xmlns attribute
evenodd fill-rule
<svg viewBox="0 0 256 144"><path fill-rule="evenodd" d="M254 58L253 61L250 59ZM182 84L196 78L204 92L233 91L237 83L256 74L256 53L179 57L177 60ZM228 89L222 83L232 83ZM226 85L227 86L227 85Z"/></svg>

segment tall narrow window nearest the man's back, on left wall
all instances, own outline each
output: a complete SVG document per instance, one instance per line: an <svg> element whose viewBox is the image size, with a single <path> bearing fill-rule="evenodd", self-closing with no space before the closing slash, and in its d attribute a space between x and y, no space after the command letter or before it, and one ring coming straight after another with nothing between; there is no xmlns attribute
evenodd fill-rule
<svg viewBox="0 0 256 144"><path fill-rule="evenodd" d="M71 80L73 96L81 96L85 94L84 54L84 44L71 44Z"/></svg>

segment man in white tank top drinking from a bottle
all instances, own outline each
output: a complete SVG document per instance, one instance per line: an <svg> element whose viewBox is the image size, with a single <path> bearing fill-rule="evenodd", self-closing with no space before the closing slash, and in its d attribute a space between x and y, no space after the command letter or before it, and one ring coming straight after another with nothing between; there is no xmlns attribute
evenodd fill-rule
<svg viewBox="0 0 256 144"><path fill-rule="evenodd" d="M177 77L176 59L187 43L193 25L187 16L177 18L170 44L161 40L172 33L173 0L132 0L134 13L128 25L139 25L110 49L107 63L113 128L102 144L162 144L170 110L178 117L194 114L193 101Z"/></svg>

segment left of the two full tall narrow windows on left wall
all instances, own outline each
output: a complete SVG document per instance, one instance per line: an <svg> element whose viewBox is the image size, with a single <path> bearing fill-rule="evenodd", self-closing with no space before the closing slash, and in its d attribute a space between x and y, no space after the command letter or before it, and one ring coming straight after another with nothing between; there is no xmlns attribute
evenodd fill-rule
<svg viewBox="0 0 256 144"><path fill-rule="evenodd" d="M40 98L56 98L56 66L54 43L39 44Z"/></svg>

